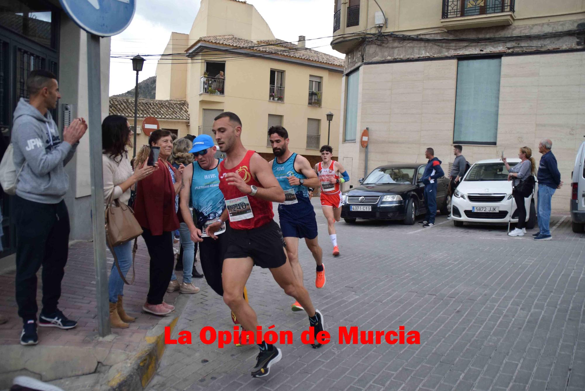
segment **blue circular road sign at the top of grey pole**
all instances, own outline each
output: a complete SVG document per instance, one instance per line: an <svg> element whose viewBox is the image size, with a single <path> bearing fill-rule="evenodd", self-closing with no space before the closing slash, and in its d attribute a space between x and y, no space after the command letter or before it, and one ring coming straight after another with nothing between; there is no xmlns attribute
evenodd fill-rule
<svg viewBox="0 0 585 391"><path fill-rule="evenodd" d="M109 37L125 30L136 0L59 0L67 15L88 33Z"/></svg>

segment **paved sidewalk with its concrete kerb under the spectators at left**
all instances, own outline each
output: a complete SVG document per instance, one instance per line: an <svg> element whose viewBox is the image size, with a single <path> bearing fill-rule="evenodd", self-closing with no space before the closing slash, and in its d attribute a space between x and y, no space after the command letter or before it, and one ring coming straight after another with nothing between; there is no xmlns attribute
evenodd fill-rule
<svg viewBox="0 0 585 391"><path fill-rule="evenodd" d="M113 263L109 251L107 262L109 273ZM98 375L105 373L115 363L132 358L144 342L147 332L161 320L161 317L142 312L149 289L149 256L142 238L139 239L135 269L135 283L124 287L124 306L130 315L137 317L136 321L130 323L129 328L112 329L113 335L99 338L93 245L91 242L71 245L59 308L67 317L77 320L78 325L71 330L39 327L39 344L29 347L19 343L22 320L18 317L14 297L14 272L0 275L0 314L9 319L8 323L0 325L0 351L4 356L4 360L0 361L0 390L9 388L12 378L20 374L45 381L81 376L54 382L67 391L80 390L96 385L99 382ZM37 274L39 311L42 308L40 272ZM114 272L117 273L117 270ZM181 280L181 272L177 273ZM128 277L131 275L132 270ZM195 284L198 282L198 279L194 280ZM173 304L177 296L178 292L167 293L165 300ZM35 359L29 359L31 356ZM23 369L25 365L27 369ZM91 373L94 375L88 375Z"/></svg>

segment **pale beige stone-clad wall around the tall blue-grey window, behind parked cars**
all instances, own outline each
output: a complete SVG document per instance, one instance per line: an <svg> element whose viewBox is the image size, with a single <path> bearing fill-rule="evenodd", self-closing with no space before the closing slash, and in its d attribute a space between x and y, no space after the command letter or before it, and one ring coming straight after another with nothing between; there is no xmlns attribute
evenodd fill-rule
<svg viewBox="0 0 585 391"><path fill-rule="evenodd" d="M518 148L553 141L565 186L553 209L567 211L574 156L585 135L585 53L505 56L502 59L497 145L464 145L470 163L516 157ZM369 128L368 171L381 164L425 162L435 149L448 172L453 156L457 61L413 61L360 67L357 134ZM345 82L345 78L344 78ZM344 126L340 126L340 142ZM364 176L364 149L341 143L340 156L359 162L349 184Z"/></svg>

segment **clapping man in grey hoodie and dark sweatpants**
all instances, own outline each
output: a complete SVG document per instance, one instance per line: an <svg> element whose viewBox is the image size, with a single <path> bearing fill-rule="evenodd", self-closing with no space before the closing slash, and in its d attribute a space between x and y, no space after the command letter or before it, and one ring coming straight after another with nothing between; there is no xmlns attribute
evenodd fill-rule
<svg viewBox="0 0 585 391"><path fill-rule="evenodd" d="M71 160L87 130L84 119L76 118L64 129L63 140L49 112L57 107L59 84L54 74L36 70L29 74L26 88L30 100L21 98L14 111L12 145L14 164L20 171L16 185L16 303L23 320L20 344L36 345L37 277L43 266L43 309L39 325L73 328L57 308L61 280L67 263L69 215L64 195L69 179L64 166Z"/></svg>

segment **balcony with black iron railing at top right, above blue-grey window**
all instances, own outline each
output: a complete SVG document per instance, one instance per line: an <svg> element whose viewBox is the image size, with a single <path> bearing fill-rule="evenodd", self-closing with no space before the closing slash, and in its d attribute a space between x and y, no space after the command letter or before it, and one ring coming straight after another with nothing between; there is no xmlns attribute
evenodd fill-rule
<svg viewBox="0 0 585 391"><path fill-rule="evenodd" d="M443 0L441 24L451 30L507 26L514 19L514 0Z"/></svg>

